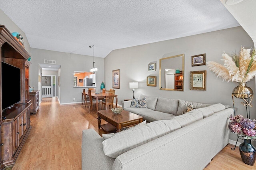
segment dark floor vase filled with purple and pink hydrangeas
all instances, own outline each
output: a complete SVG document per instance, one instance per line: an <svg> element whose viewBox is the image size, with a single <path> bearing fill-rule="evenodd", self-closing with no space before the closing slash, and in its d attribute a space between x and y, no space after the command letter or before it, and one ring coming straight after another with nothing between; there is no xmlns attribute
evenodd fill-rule
<svg viewBox="0 0 256 170"><path fill-rule="evenodd" d="M256 120L244 118L242 115L236 115L234 117L230 115L229 119L228 129L244 138L244 142L239 145L242 161L245 164L254 165L256 149L251 144L251 141L256 139Z"/></svg>

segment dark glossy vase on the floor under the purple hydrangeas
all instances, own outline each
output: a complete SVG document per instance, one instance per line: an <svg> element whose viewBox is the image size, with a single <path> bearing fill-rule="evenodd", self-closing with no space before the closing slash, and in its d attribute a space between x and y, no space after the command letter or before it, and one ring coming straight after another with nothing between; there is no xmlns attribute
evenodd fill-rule
<svg viewBox="0 0 256 170"><path fill-rule="evenodd" d="M239 145L239 151L242 161L248 165L254 165L256 159L256 149L251 144L251 139L244 139L244 142Z"/></svg>

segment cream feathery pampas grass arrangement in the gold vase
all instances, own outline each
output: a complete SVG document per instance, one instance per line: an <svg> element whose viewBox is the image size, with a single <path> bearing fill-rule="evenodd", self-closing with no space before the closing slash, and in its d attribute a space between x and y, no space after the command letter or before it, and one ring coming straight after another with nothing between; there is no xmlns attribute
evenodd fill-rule
<svg viewBox="0 0 256 170"><path fill-rule="evenodd" d="M217 78L222 78L223 81L246 83L256 75L255 55L255 49L244 49L242 46L239 55L229 55L225 52L222 54L224 65L214 61L208 61L206 64Z"/></svg>

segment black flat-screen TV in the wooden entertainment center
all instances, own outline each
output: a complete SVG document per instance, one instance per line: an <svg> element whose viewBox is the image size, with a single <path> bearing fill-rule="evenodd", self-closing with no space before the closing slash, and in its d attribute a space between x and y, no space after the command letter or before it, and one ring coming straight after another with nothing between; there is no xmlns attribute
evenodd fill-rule
<svg viewBox="0 0 256 170"><path fill-rule="evenodd" d="M2 110L20 102L20 68L2 62Z"/></svg>

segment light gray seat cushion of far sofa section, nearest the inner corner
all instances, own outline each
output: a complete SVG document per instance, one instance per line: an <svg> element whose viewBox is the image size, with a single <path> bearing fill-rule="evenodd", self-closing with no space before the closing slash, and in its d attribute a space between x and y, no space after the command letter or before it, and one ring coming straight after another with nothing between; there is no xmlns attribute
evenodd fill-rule
<svg viewBox="0 0 256 170"><path fill-rule="evenodd" d="M165 117L174 116L170 113L164 113L160 111L143 111L138 113L138 115L143 116L144 120L148 122L157 121L157 120L165 120Z"/></svg>

